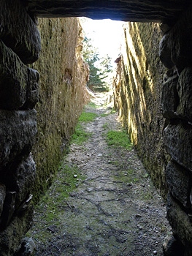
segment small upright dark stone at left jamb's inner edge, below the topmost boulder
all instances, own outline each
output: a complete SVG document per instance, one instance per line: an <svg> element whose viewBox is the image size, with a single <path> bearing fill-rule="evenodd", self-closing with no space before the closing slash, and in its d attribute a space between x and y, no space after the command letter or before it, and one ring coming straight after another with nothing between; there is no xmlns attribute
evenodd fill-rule
<svg viewBox="0 0 192 256"><path fill-rule="evenodd" d="M28 68L28 83L26 91L26 102L23 109L32 109L39 100L39 72Z"/></svg>

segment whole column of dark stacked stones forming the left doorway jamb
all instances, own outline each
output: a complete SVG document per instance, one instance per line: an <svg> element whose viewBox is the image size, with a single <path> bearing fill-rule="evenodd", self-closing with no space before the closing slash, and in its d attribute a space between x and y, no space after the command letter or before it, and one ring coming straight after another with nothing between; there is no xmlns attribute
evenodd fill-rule
<svg viewBox="0 0 192 256"><path fill-rule="evenodd" d="M0 255L13 255L31 226L36 167L40 36L21 1L0 2Z"/></svg>

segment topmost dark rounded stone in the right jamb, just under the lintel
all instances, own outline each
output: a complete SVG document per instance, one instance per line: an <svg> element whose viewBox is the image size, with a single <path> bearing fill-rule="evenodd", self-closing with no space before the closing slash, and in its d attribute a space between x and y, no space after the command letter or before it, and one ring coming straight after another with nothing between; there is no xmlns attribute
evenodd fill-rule
<svg viewBox="0 0 192 256"><path fill-rule="evenodd" d="M180 71L192 64L192 7L182 15L161 41L161 61L168 68L174 66Z"/></svg>

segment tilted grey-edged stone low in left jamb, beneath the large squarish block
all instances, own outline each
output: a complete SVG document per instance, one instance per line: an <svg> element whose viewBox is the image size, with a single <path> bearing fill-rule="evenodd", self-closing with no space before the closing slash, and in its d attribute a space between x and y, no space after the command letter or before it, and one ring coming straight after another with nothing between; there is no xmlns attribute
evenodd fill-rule
<svg viewBox="0 0 192 256"><path fill-rule="evenodd" d="M18 208L34 185L36 167L31 154L23 159L17 167L14 167L13 164L10 170L2 173L1 180L7 185L8 190L13 189L17 192L15 199Z"/></svg>

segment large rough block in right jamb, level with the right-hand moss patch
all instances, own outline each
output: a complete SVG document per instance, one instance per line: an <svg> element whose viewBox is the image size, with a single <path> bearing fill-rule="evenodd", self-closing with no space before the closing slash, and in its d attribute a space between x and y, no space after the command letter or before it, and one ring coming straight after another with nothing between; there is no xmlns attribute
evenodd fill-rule
<svg viewBox="0 0 192 256"><path fill-rule="evenodd" d="M192 126L169 124L164 129L164 145L174 161L192 170Z"/></svg>

